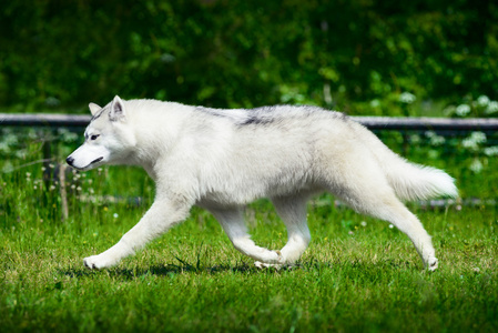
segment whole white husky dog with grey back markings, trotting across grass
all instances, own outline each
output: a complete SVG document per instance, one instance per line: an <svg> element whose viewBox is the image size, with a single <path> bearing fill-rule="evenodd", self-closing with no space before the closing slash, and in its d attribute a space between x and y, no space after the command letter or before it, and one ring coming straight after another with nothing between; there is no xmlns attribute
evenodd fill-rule
<svg viewBox="0 0 498 333"><path fill-rule="evenodd" d="M454 179L399 158L342 113L288 105L221 110L119 97L104 108L89 107L85 141L67 162L81 171L142 165L156 183L149 211L115 245L85 258L90 269L115 265L182 222L192 205L207 209L257 266L289 265L311 241L306 201L324 191L393 223L424 265L437 268L429 234L400 200L456 196ZM244 205L263 196L287 228L280 251L257 246L243 221Z"/></svg>

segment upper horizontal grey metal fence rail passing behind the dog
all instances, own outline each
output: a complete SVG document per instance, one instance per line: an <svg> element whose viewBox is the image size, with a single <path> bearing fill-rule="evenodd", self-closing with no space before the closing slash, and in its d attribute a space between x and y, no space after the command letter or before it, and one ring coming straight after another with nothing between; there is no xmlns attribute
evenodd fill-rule
<svg viewBox="0 0 498 333"><path fill-rule="evenodd" d="M394 118L394 117L352 117L370 130L405 131L498 131L498 119L447 119L447 118ZM0 125L84 128L91 115L50 113L0 113Z"/></svg>

